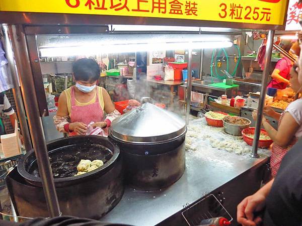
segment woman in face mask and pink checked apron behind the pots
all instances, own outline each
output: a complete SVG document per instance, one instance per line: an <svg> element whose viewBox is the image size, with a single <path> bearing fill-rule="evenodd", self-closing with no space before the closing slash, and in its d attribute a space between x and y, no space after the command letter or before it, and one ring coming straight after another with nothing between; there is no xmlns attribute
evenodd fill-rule
<svg viewBox="0 0 302 226"><path fill-rule="evenodd" d="M101 128L99 135L108 135L106 128L120 113L114 108L108 92L96 85L101 72L98 63L83 58L75 61L72 69L76 84L59 97L54 117L57 130L74 136L94 134L93 129Z"/></svg>

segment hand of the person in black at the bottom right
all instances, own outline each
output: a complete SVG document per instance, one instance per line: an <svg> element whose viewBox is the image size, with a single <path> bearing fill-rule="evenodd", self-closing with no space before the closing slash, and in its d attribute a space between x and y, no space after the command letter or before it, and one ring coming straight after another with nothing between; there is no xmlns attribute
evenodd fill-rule
<svg viewBox="0 0 302 226"><path fill-rule="evenodd" d="M262 221L260 216L254 216L255 212L263 210L265 195L261 192L246 197L237 206L237 221L242 225L256 226Z"/></svg>

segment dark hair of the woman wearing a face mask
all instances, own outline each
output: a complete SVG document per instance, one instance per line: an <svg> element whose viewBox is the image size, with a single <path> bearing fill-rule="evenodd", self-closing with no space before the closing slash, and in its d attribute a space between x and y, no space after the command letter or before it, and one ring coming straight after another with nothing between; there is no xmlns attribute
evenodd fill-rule
<svg viewBox="0 0 302 226"><path fill-rule="evenodd" d="M88 58L73 62L72 70L76 81L96 81L101 73L99 64L94 59Z"/></svg>

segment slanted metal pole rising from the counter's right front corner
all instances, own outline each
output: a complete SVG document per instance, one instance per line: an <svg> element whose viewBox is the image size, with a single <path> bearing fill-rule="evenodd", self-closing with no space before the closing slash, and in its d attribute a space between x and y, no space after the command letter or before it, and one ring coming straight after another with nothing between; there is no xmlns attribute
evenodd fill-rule
<svg viewBox="0 0 302 226"><path fill-rule="evenodd" d="M253 157L253 158L259 157L259 155L257 153L258 141L259 141L259 137L260 137L263 107L264 107L265 96L266 96L266 86L267 86L269 71L270 71L270 63L271 63L272 50L273 50L273 44L274 44L274 35L275 35L275 31L269 30L268 36L267 36L267 42L266 42L265 64L264 64L265 66L264 66L264 70L262 73L262 83L261 83L262 86L261 86L261 94L260 94L258 112L257 112L257 122L256 122L255 134L254 134L253 149L252 149L252 154L251 154L251 157Z"/></svg>

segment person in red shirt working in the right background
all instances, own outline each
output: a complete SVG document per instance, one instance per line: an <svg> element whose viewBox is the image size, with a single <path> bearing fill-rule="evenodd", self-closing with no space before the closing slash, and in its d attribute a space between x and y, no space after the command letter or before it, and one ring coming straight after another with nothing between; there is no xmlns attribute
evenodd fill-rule
<svg viewBox="0 0 302 226"><path fill-rule="evenodd" d="M281 43L280 47L287 53L289 53L291 49L291 43ZM290 69L293 65L293 62L282 54L281 56L282 59L277 62L275 69L273 70L273 73L271 75L272 80L268 83L267 86L269 88L285 89L287 85L289 85Z"/></svg>

